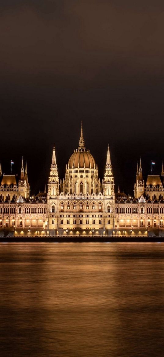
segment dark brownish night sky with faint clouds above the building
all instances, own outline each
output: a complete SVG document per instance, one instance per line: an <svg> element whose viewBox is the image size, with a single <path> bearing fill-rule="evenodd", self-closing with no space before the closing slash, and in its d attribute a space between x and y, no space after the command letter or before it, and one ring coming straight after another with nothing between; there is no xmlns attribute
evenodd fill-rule
<svg viewBox="0 0 164 357"><path fill-rule="evenodd" d="M48 182L55 143L58 171L84 139L104 175L110 144L115 177L133 193L164 160L163 1L1 0L0 159L19 172L27 160L31 192Z"/></svg>

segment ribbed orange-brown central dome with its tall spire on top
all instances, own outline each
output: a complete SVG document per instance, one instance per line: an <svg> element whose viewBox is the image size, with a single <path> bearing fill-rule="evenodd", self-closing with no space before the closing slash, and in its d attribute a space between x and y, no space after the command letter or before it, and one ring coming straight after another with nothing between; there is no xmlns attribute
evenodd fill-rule
<svg viewBox="0 0 164 357"><path fill-rule="evenodd" d="M84 138L83 138L83 127L81 122L81 136L79 140L78 150L74 150L68 161L68 167L71 169L73 167L86 167L95 169L96 163L94 157L90 154L89 150L85 150Z"/></svg>

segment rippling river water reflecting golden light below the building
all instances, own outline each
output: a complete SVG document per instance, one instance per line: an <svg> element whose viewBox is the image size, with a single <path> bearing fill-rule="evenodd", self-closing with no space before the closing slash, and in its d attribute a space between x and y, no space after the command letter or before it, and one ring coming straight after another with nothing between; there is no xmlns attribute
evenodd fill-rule
<svg viewBox="0 0 164 357"><path fill-rule="evenodd" d="M164 243L0 243L1 356L164 355Z"/></svg>

